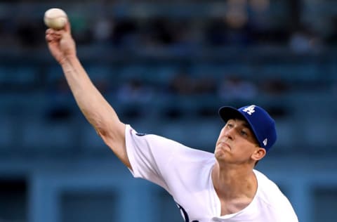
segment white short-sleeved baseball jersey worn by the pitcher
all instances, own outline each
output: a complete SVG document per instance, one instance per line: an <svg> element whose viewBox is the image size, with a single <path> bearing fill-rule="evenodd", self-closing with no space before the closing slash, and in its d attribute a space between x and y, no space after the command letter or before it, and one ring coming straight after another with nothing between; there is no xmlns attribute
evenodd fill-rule
<svg viewBox="0 0 337 222"><path fill-rule="evenodd" d="M211 171L211 152L187 148L176 141L137 133L126 126L126 151L134 177L157 183L167 190L187 222L298 222L289 200L277 185L254 170L258 189L252 202L235 214L220 216L220 200Z"/></svg>

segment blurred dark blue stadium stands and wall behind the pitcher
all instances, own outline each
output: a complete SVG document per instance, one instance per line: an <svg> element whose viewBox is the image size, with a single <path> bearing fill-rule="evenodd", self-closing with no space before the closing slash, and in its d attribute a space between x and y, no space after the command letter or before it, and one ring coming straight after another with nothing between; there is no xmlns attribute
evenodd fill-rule
<svg viewBox="0 0 337 222"><path fill-rule="evenodd" d="M337 1L0 1L0 221L183 221L79 112L44 41L63 8L121 120L213 152L218 107L256 104L279 139L258 169L300 221L337 218Z"/></svg>

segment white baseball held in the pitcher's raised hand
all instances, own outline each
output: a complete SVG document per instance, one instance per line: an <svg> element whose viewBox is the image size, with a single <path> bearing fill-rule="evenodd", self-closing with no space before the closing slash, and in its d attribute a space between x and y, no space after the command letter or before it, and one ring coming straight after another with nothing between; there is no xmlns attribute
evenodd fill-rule
<svg viewBox="0 0 337 222"><path fill-rule="evenodd" d="M60 8L50 8L44 13L44 24L54 30L62 30L67 23L67 14Z"/></svg>

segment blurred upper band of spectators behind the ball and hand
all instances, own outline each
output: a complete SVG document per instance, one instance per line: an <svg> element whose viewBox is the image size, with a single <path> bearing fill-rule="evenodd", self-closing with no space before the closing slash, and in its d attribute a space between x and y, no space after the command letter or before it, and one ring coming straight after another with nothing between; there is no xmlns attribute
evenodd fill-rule
<svg viewBox="0 0 337 222"><path fill-rule="evenodd" d="M79 45L124 50L170 47L178 53L200 47L282 45L297 53L307 53L319 50L324 44L336 43L336 19L330 19L329 30L325 27L325 32L319 32L313 24L300 19L298 1L284 1L285 7L279 7L276 13L277 6L272 4L277 1L226 1L223 13L213 12L216 8L213 6L209 14L199 17L188 15L188 12L186 16L174 16L174 12L173 15L146 15L146 11L145 15L138 13L141 16L137 13L114 15L114 4L107 3L106 6L102 4L97 13L88 13L88 8L82 13L65 8ZM157 7L162 10L165 6L159 4ZM188 10L188 5L180 8L184 10ZM2 16L0 44L4 47L44 47L45 29L42 15Z"/></svg>

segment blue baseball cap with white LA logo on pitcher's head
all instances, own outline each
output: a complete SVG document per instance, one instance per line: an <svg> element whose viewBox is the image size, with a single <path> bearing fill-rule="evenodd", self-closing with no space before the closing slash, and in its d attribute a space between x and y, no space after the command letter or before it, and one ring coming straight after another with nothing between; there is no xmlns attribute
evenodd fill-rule
<svg viewBox="0 0 337 222"><path fill-rule="evenodd" d="M256 140L261 148L268 151L276 142L277 134L275 121L267 111L257 105L246 105L239 109L230 106L223 106L219 109L219 115L223 121L241 117L251 127Z"/></svg>

